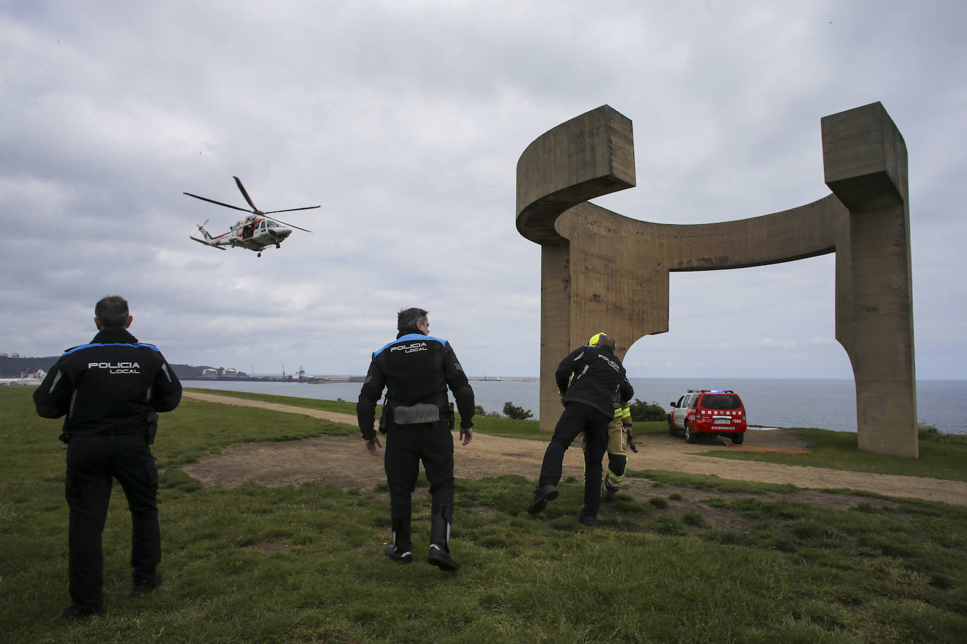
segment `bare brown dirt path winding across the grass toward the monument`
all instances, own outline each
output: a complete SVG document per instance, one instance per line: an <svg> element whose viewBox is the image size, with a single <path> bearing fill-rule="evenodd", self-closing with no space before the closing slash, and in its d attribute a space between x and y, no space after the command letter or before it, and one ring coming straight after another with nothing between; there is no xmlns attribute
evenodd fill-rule
<svg viewBox="0 0 967 644"><path fill-rule="evenodd" d="M184 395L210 403L258 406L356 425L355 416L332 411L190 391L186 391ZM711 441L689 444L680 436L673 437L668 434L642 436L637 443L638 453L629 455L630 469L714 474L724 479L791 484L811 490L864 490L888 496L921 498L967 506L967 483L959 481L707 458L701 454L736 448ZM749 430L746 446L808 449L803 439L781 430ZM454 473L458 478L475 479L517 474L536 480L545 447L545 443L536 440L475 434L473 442L466 447L456 443ZM367 489L372 487L373 482L381 482L384 478L383 460L369 456L357 435L249 443L223 450L219 455L205 457L199 462L185 465L182 469L206 487L233 487L243 483L283 486L317 482L342 489ZM580 478L582 472L580 451L568 450L564 461L564 476Z"/></svg>

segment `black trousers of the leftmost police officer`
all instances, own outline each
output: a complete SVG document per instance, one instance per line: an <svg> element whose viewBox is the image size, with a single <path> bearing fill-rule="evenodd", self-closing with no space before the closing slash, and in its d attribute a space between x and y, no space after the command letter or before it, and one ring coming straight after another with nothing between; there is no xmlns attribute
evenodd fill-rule
<svg viewBox="0 0 967 644"><path fill-rule="evenodd" d="M151 577L161 561L158 467L144 435L72 436L65 496L70 508L70 591L77 607L103 608L101 535L112 479L121 484L131 511L133 582Z"/></svg>

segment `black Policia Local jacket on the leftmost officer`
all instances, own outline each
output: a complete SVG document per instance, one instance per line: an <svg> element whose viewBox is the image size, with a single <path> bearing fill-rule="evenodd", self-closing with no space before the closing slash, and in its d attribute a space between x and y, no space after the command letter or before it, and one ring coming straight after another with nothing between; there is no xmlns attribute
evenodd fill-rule
<svg viewBox="0 0 967 644"><path fill-rule="evenodd" d="M140 434L152 412L174 409L181 394L157 347L111 328L66 350L34 392L34 405L44 418L66 416L64 434Z"/></svg>

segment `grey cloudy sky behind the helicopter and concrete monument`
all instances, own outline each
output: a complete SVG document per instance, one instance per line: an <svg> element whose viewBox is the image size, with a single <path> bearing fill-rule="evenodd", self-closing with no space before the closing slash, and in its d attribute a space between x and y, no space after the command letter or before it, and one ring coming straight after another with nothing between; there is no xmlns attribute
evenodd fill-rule
<svg viewBox="0 0 967 644"><path fill-rule="evenodd" d="M87 342L122 294L171 362L360 375L422 306L471 375L536 376L531 141L609 104L637 186L595 203L725 221L829 194L820 119L880 101L909 153L917 375L967 379L965 24L955 0L0 0L0 351ZM233 175L262 210L321 205L284 213L313 233L190 241L241 213L182 192L244 206ZM832 255L673 273L630 375L852 378L833 294Z"/></svg>

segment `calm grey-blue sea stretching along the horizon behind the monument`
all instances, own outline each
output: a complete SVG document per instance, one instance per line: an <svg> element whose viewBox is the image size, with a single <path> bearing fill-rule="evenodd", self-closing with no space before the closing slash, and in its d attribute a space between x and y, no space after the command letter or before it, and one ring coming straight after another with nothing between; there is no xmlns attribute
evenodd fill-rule
<svg viewBox="0 0 967 644"><path fill-rule="evenodd" d="M634 398L668 409L689 389L731 389L746 406L748 424L755 427L813 427L856 432L856 387L852 379L701 379L630 378ZM530 409L541 417L539 382L528 379L471 380L477 405L500 412L504 403ZM189 380L185 386L226 391L351 401L359 398L360 382L278 382L269 380ZM559 413L555 406L549 413ZM967 434L967 380L918 380L919 421L946 434Z"/></svg>

